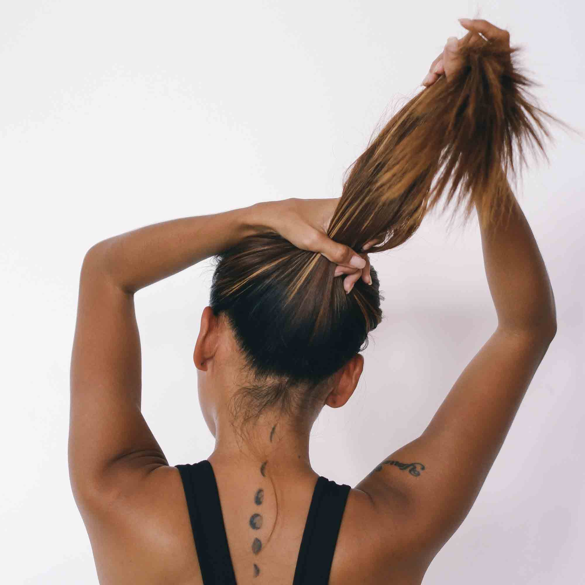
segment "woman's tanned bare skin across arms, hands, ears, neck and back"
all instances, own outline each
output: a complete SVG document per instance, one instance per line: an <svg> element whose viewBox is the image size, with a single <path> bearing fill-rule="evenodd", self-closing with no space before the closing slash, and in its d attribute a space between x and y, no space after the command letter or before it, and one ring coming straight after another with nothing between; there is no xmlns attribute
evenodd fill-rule
<svg viewBox="0 0 585 585"><path fill-rule="evenodd" d="M470 34L509 42L507 32L485 20L462 25ZM456 59L450 41L425 84L449 75ZM331 218L337 204L338 199L288 199L176 219L109 238L86 254L71 357L68 458L102 585L201 583L178 470L169 466L140 411L135 293L267 228L338 264L349 292L359 278L370 280L369 259L326 237L324 218ZM472 507L555 336L552 287L515 198L510 221L483 229L481 244L497 328L425 431L350 491L332 584L421 583ZM218 474L230 552L236 569L243 567L239 583L276 583L294 567L304 524L298 510L307 510L318 478L308 459L314 420L293 432L286 421L267 418L259 426L261 456L246 452L233 463L239 451L231 446L221 410L229 395L220 379L230 360L238 359L232 342L205 308L194 363L208 386L202 396L209 404L202 410L216 438L209 460ZM362 368L363 357L354 356L336 374L324 405L344 405ZM236 487L235 474L241 476ZM287 495L278 502L279 494Z"/></svg>

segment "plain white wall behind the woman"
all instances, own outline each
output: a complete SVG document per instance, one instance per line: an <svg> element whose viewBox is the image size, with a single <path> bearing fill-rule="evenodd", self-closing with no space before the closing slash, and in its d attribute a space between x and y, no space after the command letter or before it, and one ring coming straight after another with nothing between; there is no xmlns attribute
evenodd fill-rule
<svg viewBox="0 0 585 585"><path fill-rule="evenodd" d="M78 277L94 243L150 223L287 197L338 197L342 173L420 81L457 18L525 47L547 111L585 128L582 4L2 0L0 580L97 583L67 471ZM480 11L478 12L478 8ZM584 143L552 127L517 197L553 284L558 334L469 516L424 584L581 582ZM416 438L496 319L476 216L425 219L372 262L386 318L314 469L352 486ZM192 350L207 262L139 291L143 412L170 464L214 442Z"/></svg>

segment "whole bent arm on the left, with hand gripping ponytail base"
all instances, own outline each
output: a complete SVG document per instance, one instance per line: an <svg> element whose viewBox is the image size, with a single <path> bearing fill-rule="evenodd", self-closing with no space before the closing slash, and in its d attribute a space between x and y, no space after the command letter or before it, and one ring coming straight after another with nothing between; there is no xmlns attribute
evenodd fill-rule
<svg viewBox="0 0 585 585"><path fill-rule="evenodd" d="M350 267L352 257L366 263L364 254L325 235L337 201L290 199L175 219L108 238L85 254L70 370L68 461L78 505L108 500L168 464L140 412L135 292L265 231L337 260L353 282L369 278L369 263L363 271Z"/></svg>

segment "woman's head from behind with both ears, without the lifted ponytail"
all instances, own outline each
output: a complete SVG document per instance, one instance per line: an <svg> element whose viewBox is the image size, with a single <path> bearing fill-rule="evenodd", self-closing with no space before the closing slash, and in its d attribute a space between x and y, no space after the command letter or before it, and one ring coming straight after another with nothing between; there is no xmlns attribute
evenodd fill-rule
<svg viewBox="0 0 585 585"><path fill-rule="evenodd" d="M218 256L194 352L214 435L222 408L242 434L264 418L304 433L325 405L349 400L381 297L375 269L371 285L359 281L347 295L335 267L277 235L247 238Z"/></svg>

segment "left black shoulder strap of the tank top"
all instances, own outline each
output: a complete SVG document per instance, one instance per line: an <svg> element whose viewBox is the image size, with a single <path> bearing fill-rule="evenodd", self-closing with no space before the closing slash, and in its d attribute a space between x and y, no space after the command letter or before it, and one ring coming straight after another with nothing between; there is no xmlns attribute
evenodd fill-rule
<svg viewBox="0 0 585 585"><path fill-rule="evenodd" d="M207 459L176 465L205 585L236 585L215 474Z"/></svg>

